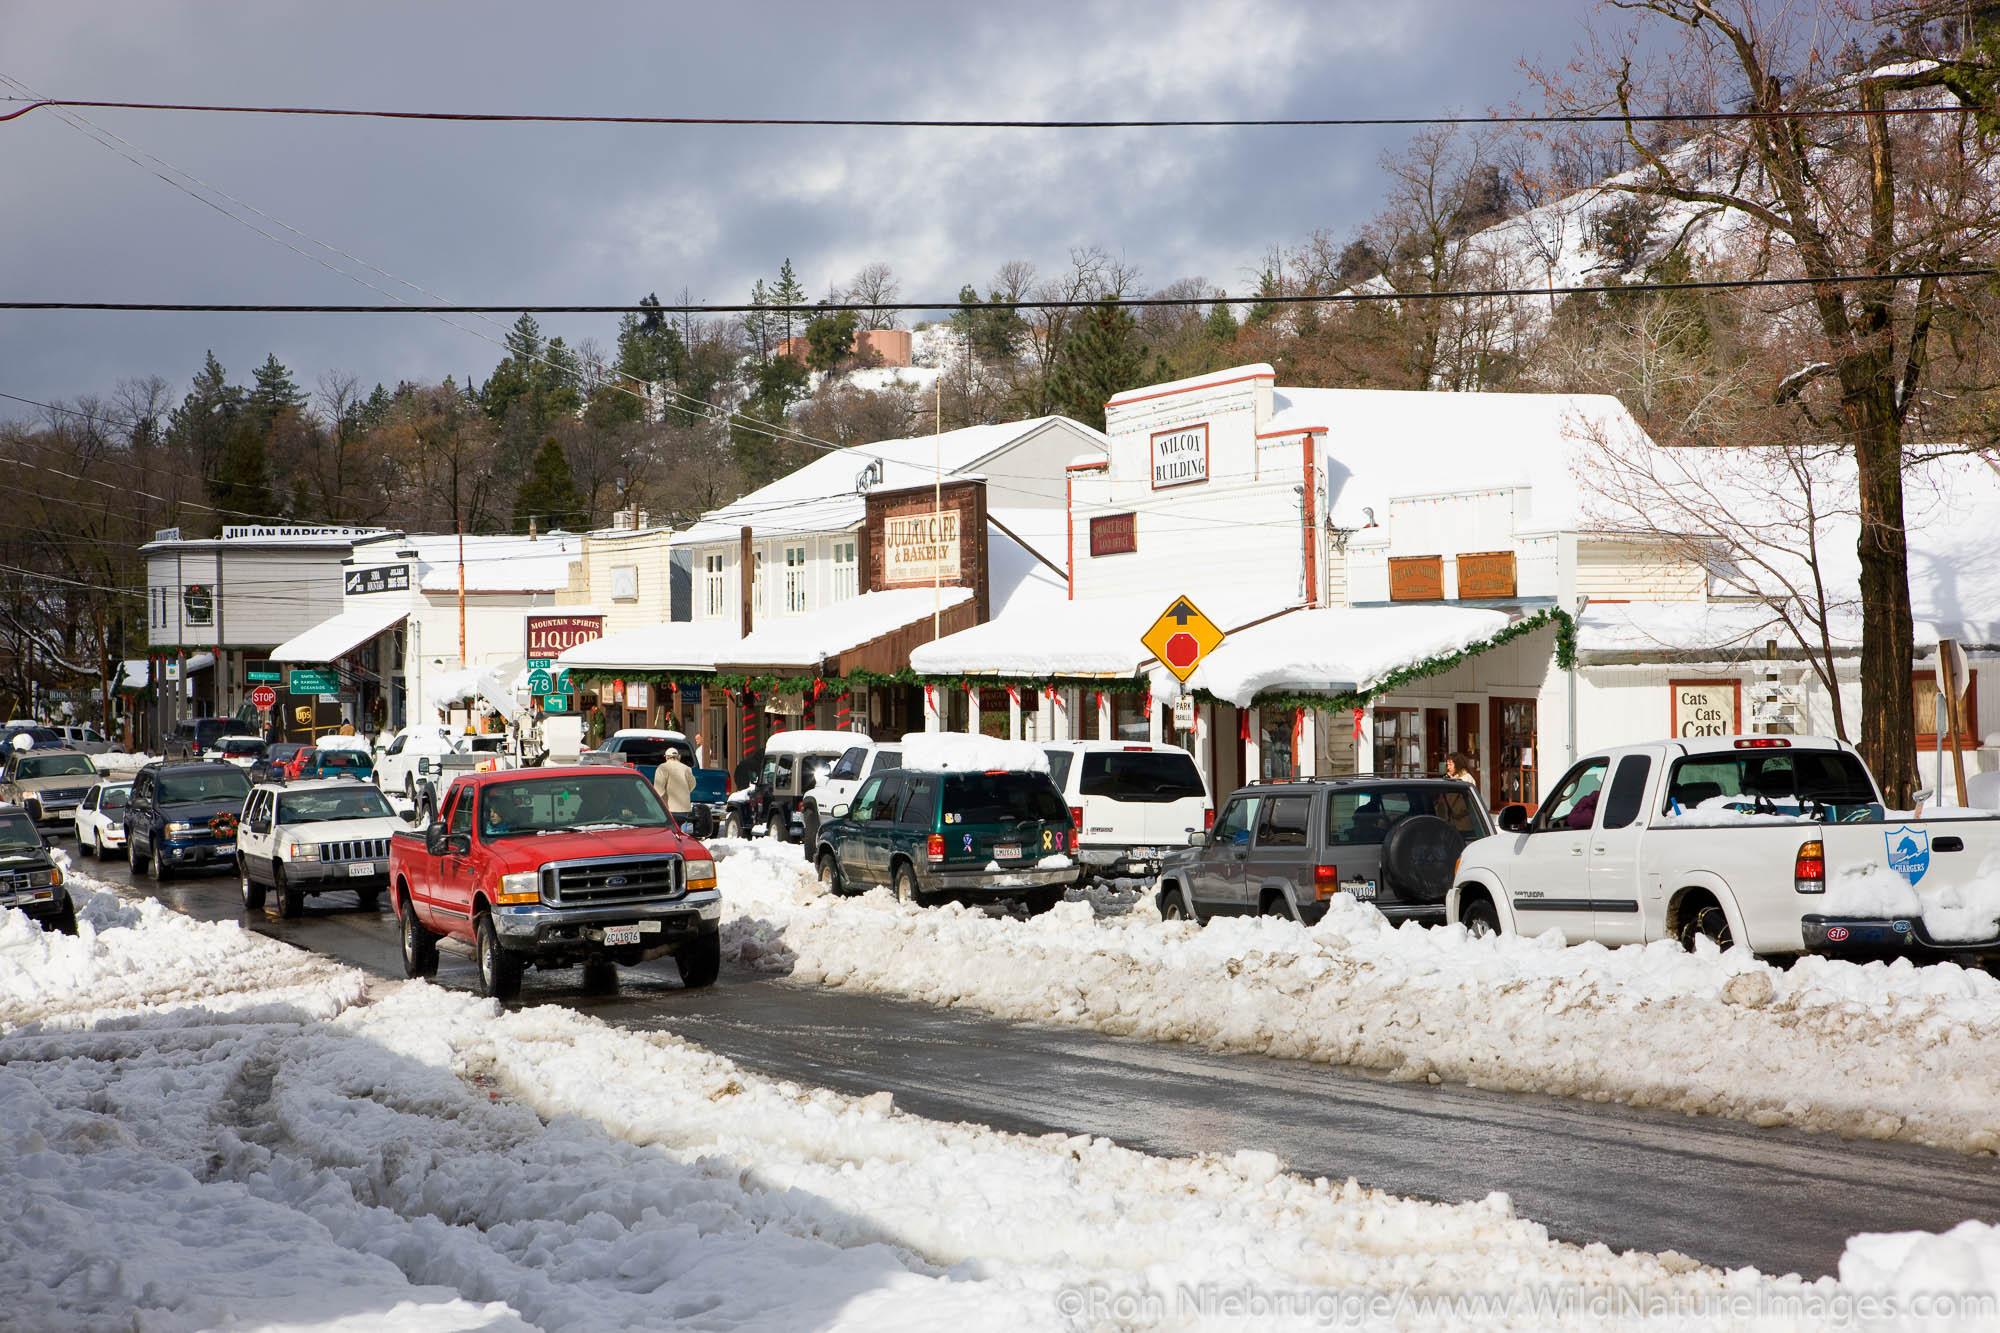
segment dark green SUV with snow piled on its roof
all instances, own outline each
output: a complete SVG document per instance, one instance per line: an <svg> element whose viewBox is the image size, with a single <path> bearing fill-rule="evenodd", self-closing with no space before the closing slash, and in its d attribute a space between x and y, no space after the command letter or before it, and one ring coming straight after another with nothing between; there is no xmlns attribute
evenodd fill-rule
<svg viewBox="0 0 2000 1333"><path fill-rule="evenodd" d="M828 811L812 853L830 893L904 903L1018 899L1044 913L1076 883L1076 825L1046 773L892 769Z"/></svg>

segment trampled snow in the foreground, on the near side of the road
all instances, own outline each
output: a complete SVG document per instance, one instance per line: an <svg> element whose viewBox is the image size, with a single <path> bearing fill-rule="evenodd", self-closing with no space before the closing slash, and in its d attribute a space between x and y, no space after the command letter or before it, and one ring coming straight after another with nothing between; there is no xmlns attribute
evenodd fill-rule
<svg viewBox="0 0 2000 1333"><path fill-rule="evenodd" d="M74 939L0 913L14 1327L1808 1329L1856 1307L1832 1279L1556 1243L1500 1195L924 1121L72 883ZM1848 1265L1876 1299L1988 1291L2000 1243L1862 1237Z"/></svg>

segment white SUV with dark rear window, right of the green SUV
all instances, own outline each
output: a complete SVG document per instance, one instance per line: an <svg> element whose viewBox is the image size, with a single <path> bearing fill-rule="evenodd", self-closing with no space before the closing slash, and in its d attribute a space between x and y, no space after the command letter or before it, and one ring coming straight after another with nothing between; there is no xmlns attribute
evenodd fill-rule
<svg viewBox="0 0 2000 1333"><path fill-rule="evenodd" d="M1070 807L1090 875L1150 879L1216 807L1194 757L1146 741L1044 741L1048 777Z"/></svg>

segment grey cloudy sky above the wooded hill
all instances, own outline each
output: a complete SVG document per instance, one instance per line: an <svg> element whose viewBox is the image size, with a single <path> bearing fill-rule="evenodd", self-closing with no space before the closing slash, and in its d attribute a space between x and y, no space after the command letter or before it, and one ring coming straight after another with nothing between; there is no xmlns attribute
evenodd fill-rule
<svg viewBox="0 0 2000 1333"><path fill-rule="evenodd" d="M1410 116L1520 96L1518 62L1570 50L1586 8L0 0L0 76L18 84L0 94L704 116ZM398 280L478 304L648 290L720 302L746 298L786 256L812 296L882 260L906 298L948 298L1006 260L1054 272L1086 244L1122 254L1152 286L1198 274L1236 292L1268 248L1366 220L1380 202L1378 158L1404 138L82 114L124 142L94 142L50 110L0 122L10 300L386 300L350 272L400 296L416 292ZM162 176L262 210L286 244ZM276 352L308 388L326 370L484 378L498 328L454 320L466 328L422 316L0 312L0 392L108 394L120 378L160 374L178 396L204 348L238 380ZM608 344L616 320L542 324L572 344ZM22 412L0 400L0 418Z"/></svg>

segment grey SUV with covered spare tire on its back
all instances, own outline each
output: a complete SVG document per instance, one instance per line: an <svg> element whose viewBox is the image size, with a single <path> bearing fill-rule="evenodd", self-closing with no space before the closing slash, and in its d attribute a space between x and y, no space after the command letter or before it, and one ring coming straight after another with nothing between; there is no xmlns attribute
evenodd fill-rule
<svg viewBox="0 0 2000 1333"><path fill-rule="evenodd" d="M1478 793L1454 779L1374 775L1252 783L1216 827L1166 859L1160 915L1314 923L1336 893L1390 921L1444 921L1466 843L1492 833Z"/></svg>

